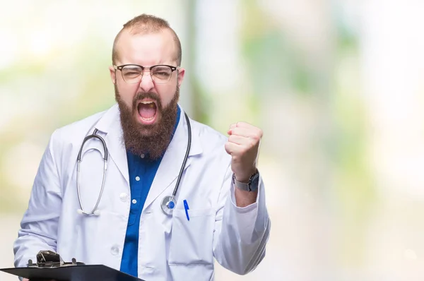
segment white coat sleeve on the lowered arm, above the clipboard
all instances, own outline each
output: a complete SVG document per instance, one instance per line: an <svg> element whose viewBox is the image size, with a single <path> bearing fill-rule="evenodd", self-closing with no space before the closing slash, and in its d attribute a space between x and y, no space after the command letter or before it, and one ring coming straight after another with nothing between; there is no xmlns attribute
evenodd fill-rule
<svg viewBox="0 0 424 281"><path fill-rule="evenodd" d="M35 261L39 251L56 251L61 189L59 173L54 161L53 136L42 156L28 209L23 215L18 238L13 244L16 267L25 267L28 259Z"/></svg>

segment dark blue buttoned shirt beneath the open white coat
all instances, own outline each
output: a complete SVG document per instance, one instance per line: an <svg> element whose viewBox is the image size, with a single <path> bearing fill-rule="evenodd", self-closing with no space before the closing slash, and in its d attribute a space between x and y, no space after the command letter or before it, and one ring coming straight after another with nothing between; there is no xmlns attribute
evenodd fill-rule
<svg viewBox="0 0 424 281"><path fill-rule="evenodd" d="M172 136L174 136L175 130L177 130L180 115L181 110L178 107L177 121ZM158 160L150 160L148 159L148 155L141 158L127 151L126 159L128 161L129 187L131 189L131 208L129 210L120 270L137 277L141 210L143 210L144 202L146 202L148 191L151 188L162 157Z"/></svg>

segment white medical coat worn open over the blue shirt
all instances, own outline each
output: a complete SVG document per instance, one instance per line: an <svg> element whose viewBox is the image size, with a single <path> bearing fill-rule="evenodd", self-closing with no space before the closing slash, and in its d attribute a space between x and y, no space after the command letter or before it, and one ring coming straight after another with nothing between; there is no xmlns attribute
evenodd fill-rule
<svg viewBox="0 0 424 281"><path fill-rule="evenodd" d="M175 188L187 148L188 129L181 114L146 198L139 226L138 273L146 281L213 280L213 258L223 267L246 274L265 255L270 221L264 184L259 179L257 202L235 205L227 138L191 120L192 148L184 167L172 216L160 208ZM77 213L76 157L83 138L93 133L105 138L109 160L99 216ZM80 172L81 200L93 209L102 183L100 141L84 145ZM187 220L182 201L187 200ZM129 218L131 194L119 108L77 121L54 131L42 157L26 210L13 246L15 266L26 266L40 250L52 250L64 261L104 264L119 270Z"/></svg>

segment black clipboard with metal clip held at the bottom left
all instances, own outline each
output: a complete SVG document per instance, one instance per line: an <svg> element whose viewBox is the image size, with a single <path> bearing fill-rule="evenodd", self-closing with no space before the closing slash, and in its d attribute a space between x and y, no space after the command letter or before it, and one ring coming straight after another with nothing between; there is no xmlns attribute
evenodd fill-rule
<svg viewBox="0 0 424 281"><path fill-rule="evenodd" d="M47 256L49 257L47 258ZM40 261L41 259L44 261ZM26 268L0 268L0 270L18 277L28 278L30 281L144 281L106 265L76 263L74 258L72 263L64 263L57 253L51 251L40 251L37 254L37 263L29 260Z"/></svg>

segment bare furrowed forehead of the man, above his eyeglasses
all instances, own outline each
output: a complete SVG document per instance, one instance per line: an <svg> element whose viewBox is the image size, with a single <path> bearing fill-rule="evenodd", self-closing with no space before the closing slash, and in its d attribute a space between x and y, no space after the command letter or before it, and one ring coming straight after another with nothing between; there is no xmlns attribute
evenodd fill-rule
<svg viewBox="0 0 424 281"><path fill-rule="evenodd" d="M123 30L115 47L120 64L172 64L177 54L174 37L166 29L137 34Z"/></svg>

